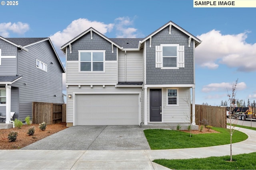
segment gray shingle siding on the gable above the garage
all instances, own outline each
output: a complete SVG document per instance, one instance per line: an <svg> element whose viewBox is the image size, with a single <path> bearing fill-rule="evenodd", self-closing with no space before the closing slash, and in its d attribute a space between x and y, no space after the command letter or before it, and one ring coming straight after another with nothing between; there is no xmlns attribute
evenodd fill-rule
<svg viewBox="0 0 256 170"><path fill-rule="evenodd" d="M112 53L112 45L109 41L102 38L98 34L93 32L92 39L90 33L85 34L78 40L74 41L72 45L72 53L67 47L67 60L78 61L78 50L106 50L105 60L116 61L116 46L114 46L114 53Z"/></svg>

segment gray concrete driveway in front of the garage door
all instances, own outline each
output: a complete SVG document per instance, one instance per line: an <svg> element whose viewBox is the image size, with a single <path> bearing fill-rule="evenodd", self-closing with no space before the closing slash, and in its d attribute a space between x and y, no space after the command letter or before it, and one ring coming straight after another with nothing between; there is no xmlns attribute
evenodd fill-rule
<svg viewBox="0 0 256 170"><path fill-rule="evenodd" d="M87 125L69 127L22 149L150 150L150 147L140 126Z"/></svg>

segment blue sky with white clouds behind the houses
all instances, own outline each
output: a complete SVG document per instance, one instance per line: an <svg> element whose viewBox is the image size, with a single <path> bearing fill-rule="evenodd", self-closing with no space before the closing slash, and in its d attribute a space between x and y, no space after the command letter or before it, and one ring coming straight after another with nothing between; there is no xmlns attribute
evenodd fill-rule
<svg viewBox="0 0 256 170"><path fill-rule="evenodd" d="M173 21L202 40L196 104L228 100L237 78L236 98L256 100L256 8L193 8L193 0L19 0L0 5L0 16L1 36L50 37L64 66L60 46L89 27L109 38L144 38Z"/></svg>

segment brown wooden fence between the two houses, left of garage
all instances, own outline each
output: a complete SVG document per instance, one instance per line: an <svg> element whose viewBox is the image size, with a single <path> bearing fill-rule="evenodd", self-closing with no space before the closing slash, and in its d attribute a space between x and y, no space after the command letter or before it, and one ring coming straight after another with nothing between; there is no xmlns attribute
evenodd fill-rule
<svg viewBox="0 0 256 170"><path fill-rule="evenodd" d="M66 122L66 104L32 102L32 122L48 125Z"/></svg>

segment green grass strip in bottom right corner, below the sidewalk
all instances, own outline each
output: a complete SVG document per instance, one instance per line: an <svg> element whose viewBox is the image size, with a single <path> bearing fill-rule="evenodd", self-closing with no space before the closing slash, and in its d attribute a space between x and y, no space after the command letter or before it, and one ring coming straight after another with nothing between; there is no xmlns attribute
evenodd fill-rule
<svg viewBox="0 0 256 170"><path fill-rule="evenodd" d="M256 152L233 155L233 162L229 161L230 156L176 160L158 159L153 162L176 170L255 170L255 158Z"/></svg>

